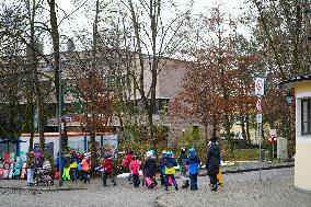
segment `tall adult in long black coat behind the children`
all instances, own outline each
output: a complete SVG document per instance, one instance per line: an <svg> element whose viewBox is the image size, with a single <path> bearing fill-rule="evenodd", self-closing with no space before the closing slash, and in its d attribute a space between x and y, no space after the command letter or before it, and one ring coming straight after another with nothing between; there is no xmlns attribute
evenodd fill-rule
<svg viewBox="0 0 311 207"><path fill-rule="evenodd" d="M216 143L217 138L209 139L210 143L207 150L206 170L212 185L211 191L217 191L217 174L220 164L220 148Z"/></svg>

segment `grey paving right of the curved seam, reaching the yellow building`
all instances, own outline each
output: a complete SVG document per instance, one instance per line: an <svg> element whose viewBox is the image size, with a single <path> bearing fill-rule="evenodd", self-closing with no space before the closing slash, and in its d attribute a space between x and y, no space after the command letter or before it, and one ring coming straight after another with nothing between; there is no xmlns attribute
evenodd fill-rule
<svg viewBox="0 0 311 207"><path fill-rule="evenodd" d="M157 199L160 207L269 207L310 206L311 196L293 188L293 168L223 175L223 187L211 192L207 177L198 177L198 191L173 191Z"/></svg>

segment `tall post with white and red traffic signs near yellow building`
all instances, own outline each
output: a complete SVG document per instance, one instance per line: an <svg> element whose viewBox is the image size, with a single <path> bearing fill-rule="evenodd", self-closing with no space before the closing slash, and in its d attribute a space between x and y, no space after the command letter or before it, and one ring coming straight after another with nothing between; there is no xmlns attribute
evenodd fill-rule
<svg viewBox="0 0 311 207"><path fill-rule="evenodd" d="M256 102L256 123L258 125L258 139L260 139L260 162L262 162L262 126L263 126L263 99L265 94L265 79L255 78L255 95L257 96ZM260 163L260 181L262 181L262 166Z"/></svg>

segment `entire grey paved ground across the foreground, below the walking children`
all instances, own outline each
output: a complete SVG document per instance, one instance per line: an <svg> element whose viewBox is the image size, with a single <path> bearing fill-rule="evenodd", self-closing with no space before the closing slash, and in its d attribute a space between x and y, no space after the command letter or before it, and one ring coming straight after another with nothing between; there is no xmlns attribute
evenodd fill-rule
<svg viewBox="0 0 311 207"><path fill-rule="evenodd" d="M263 182L258 182L258 172L223 175L224 187L217 193L210 192L207 177L199 177L199 191L181 189L166 194L157 186L149 191L142 186L134 188L125 180L117 180L116 187L101 187L99 180L91 184L78 183L88 189L68 192L39 192L0 189L2 207L49 207L49 206L116 206L154 207L169 206L299 206L311 207L311 196L293 189L293 169L263 171ZM25 181L0 181L0 186L21 185ZM24 184L24 183L22 183ZM71 185L71 184L70 184Z"/></svg>

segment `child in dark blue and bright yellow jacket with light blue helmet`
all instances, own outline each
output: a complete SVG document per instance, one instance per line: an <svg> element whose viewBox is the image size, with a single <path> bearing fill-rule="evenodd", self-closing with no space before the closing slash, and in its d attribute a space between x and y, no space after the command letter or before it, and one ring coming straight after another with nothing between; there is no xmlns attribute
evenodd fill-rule
<svg viewBox="0 0 311 207"><path fill-rule="evenodd" d="M173 152L168 151L166 152L166 159L162 163L162 168L164 169L165 174L165 188L164 191L169 191L169 181L171 179L173 185L175 186L175 189L178 191L178 186L175 180L175 169L174 166L177 166L177 162L172 158Z"/></svg>

